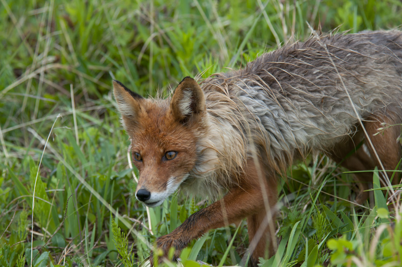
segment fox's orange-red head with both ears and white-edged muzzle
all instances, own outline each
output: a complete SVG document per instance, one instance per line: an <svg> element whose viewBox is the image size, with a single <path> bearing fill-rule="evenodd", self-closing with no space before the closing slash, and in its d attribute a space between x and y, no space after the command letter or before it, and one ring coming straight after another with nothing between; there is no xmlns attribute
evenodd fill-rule
<svg viewBox="0 0 402 267"><path fill-rule="evenodd" d="M189 176L196 163L197 131L206 116L198 83L185 77L169 99L145 99L114 80L132 161L140 172L136 198L149 207L163 201Z"/></svg>

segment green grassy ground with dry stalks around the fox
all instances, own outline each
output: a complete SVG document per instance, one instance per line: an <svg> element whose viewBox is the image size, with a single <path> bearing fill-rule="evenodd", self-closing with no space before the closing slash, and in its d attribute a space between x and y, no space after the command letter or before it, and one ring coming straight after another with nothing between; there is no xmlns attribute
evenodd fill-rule
<svg viewBox="0 0 402 267"><path fill-rule="evenodd" d="M135 200L112 78L143 96L165 94L184 76L238 68L306 38L309 25L396 27L402 4L0 0L0 22L0 265L127 266L209 202L178 194L147 211ZM402 265L401 221L378 190L371 205L352 205L344 171L324 156L289 169L278 252L264 266ZM243 222L210 231L182 258L188 266L244 264L247 246Z"/></svg>

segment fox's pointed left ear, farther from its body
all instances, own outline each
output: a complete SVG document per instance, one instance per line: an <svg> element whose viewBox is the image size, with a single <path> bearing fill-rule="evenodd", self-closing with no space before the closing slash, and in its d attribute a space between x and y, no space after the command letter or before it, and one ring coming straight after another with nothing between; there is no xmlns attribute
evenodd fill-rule
<svg viewBox="0 0 402 267"><path fill-rule="evenodd" d="M140 102L144 99L143 97L131 91L118 80L113 80L113 93L123 119L124 117L131 119L138 116L141 110Z"/></svg>

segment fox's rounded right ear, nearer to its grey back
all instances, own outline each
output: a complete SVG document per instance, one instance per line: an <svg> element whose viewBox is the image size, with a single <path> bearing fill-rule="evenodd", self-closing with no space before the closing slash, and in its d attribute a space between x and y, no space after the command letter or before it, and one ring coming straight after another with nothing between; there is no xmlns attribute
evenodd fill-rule
<svg viewBox="0 0 402 267"><path fill-rule="evenodd" d="M179 121L187 121L191 116L204 112L205 96L198 83L191 77L180 81L170 101L170 110Z"/></svg>

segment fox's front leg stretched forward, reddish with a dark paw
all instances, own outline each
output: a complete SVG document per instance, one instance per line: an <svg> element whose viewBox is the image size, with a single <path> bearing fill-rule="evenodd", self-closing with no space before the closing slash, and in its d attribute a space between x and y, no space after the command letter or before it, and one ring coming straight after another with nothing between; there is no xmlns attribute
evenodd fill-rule
<svg viewBox="0 0 402 267"><path fill-rule="evenodd" d="M156 241L157 247L162 249L165 257L168 255L170 247L174 247L175 259L192 239L202 236L208 230L238 222L242 218L261 212L264 209L263 194L267 195L269 206L273 209L277 199L276 182L270 183L268 188L268 182L264 178L266 188L261 190L258 181L258 174L253 160L248 160L244 176L239 181L240 185L238 187L234 187L222 200L192 214L170 234L159 237ZM258 223L255 226L258 227ZM269 236L266 231L264 235ZM260 245L260 242L258 242L256 253L258 251L261 255L256 254L257 256L264 255L263 252L260 252L264 251L260 249L262 246L265 248L264 244ZM258 257L256 260L258 260Z"/></svg>

